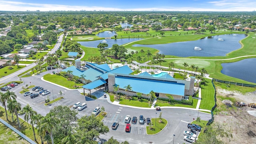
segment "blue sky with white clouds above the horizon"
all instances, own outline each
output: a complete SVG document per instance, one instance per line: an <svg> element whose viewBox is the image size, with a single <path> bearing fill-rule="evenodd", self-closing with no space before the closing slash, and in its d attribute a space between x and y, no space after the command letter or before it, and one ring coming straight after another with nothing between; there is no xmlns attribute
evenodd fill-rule
<svg viewBox="0 0 256 144"><path fill-rule="evenodd" d="M0 11L212 11L256 10L256 0L0 0Z"/></svg>

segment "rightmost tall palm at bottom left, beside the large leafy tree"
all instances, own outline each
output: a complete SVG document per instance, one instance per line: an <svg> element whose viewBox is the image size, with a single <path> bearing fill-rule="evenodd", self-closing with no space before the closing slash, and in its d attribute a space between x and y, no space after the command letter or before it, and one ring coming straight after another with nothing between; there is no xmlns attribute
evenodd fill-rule
<svg viewBox="0 0 256 144"><path fill-rule="evenodd" d="M46 114L45 117L43 117L40 122L40 129L44 129L44 131L47 131L50 133L52 144L54 144L53 141L53 135L52 135L52 129L58 124L60 121L58 118L54 117L54 113L50 112Z"/></svg>

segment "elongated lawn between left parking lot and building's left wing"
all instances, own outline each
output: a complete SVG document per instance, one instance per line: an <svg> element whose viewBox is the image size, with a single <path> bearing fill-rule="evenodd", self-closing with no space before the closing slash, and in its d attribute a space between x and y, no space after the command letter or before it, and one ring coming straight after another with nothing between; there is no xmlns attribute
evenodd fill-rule
<svg viewBox="0 0 256 144"><path fill-rule="evenodd" d="M44 75L44 80L47 80L49 82L53 82L55 84L64 86L66 88L76 89L76 88L73 87L74 86L73 81L68 81L63 76L60 76L60 75L57 75L57 74L46 74L46 75ZM83 85L84 84L76 84L76 86L83 86Z"/></svg>

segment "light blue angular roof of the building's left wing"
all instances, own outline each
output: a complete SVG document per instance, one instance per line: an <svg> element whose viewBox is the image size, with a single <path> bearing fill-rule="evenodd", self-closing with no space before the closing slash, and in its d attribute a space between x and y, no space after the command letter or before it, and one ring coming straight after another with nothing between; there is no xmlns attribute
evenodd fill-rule
<svg viewBox="0 0 256 144"><path fill-rule="evenodd" d="M86 76L85 79L90 80L92 82L94 80L97 80L98 79L97 77L102 74L101 72L99 72L98 70L94 70L93 68L88 68L87 70L82 72L81 70L77 69L75 66L70 66L62 71L67 72L68 70L73 71L72 74L74 76L81 77L81 75L84 74Z"/></svg>

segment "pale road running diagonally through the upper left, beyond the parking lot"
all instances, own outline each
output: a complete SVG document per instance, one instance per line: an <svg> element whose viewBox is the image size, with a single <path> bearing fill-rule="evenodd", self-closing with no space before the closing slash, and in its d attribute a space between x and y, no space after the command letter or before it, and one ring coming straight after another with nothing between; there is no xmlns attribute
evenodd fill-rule
<svg viewBox="0 0 256 144"><path fill-rule="evenodd" d="M60 47L60 44L62 42L63 36L64 36L64 34L60 35L60 37L58 38L59 43L55 44L54 48L49 52L50 54L53 54L56 50L58 50L58 48ZM27 70L30 70L34 66L36 66L35 63L29 64L28 66L26 66L25 68L22 68L21 70L18 70L12 74L9 74L8 76L4 76L3 78L0 78L0 84L2 84L4 82L9 82L10 79L17 77L19 74L26 72Z"/></svg>

